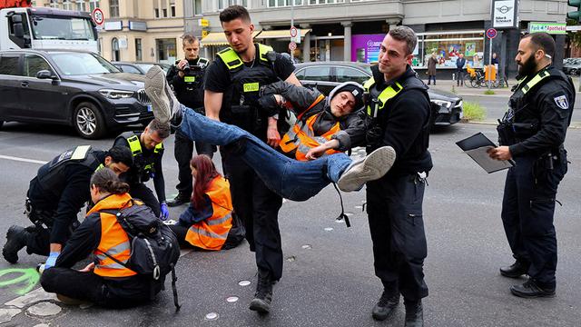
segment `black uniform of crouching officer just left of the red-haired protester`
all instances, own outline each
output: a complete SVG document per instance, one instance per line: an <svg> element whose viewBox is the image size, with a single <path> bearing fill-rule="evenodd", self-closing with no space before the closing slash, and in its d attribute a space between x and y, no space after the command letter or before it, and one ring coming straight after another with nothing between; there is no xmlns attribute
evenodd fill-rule
<svg viewBox="0 0 581 327"><path fill-rule="evenodd" d="M163 179L162 171L162 156L163 144L158 144L152 150L143 146L139 141L139 132L125 132L120 134L115 139L113 146L124 146L132 150L133 166L129 168L127 173L121 174L121 179L129 183L129 193L133 198L140 199L150 207L157 217L161 215L160 203L165 202L165 181ZM139 149L133 149L130 144L130 139L135 140L139 144ZM153 195L152 190L145 185L147 181L153 178L153 186L157 198Z"/></svg>

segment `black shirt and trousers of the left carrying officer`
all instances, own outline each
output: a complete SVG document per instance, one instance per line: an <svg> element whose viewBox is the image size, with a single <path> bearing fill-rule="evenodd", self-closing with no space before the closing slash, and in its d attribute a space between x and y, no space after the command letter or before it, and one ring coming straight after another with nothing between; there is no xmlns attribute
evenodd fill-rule
<svg viewBox="0 0 581 327"><path fill-rule="evenodd" d="M223 93L220 119L234 124L266 140L268 117L258 105L259 89L262 85L278 80L286 80L294 71L291 61L281 54L265 54L264 45L256 46L256 58L251 63L242 63L237 54L232 54L226 62L223 50L208 68L204 88ZM261 47L259 47L261 46ZM233 50L231 50L233 52ZM278 213L282 198L273 193L254 172L236 155L228 154L221 147L222 167L228 180L234 211L241 217L246 227L246 239L252 252L256 253L259 271L270 273L272 281L282 275L281 233Z"/></svg>

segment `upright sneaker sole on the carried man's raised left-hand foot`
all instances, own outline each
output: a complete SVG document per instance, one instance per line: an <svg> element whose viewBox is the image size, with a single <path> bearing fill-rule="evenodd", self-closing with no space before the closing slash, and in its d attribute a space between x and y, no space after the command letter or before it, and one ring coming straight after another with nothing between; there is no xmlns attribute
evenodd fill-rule
<svg viewBox="0 0 581 327"><path fill-rule="evenodd" d="M152 101L153 116L162 123L170 121L172 108L169 107L170 99L165 93L165 75L161 68L153 66L145 74L145 94Z"/></svg>

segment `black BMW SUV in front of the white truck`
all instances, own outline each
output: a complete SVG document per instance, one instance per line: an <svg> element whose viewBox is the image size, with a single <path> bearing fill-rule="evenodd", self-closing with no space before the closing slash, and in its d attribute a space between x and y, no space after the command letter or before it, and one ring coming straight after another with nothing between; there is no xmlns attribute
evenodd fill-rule
<svg viewBox="0 0 581 327"><path fill-rule="evenodd" d="M88 51L1 51L0 126L65 124L96 139L123 125L147 124L153 113L144 81Z"/></svg>

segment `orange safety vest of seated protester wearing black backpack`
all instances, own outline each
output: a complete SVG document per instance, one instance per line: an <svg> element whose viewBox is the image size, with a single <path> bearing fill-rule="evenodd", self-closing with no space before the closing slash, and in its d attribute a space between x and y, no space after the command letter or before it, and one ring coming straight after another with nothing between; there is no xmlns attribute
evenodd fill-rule
<svg viewBox="0 0 581 327"><path fill-rule="evenodd" d="M91 213L98 213L104 209L121 209L131 206L131 196L128 193L113 194L99 201L91 208ZM136 275L131 269L122 264L115 263L103 253L107 253L121 263L127 263L131 256L131 242L117 218L111 213L101 214L101 241L94 250L97 263L94 265L94 273L102 277L128 277Z"/></svg>

